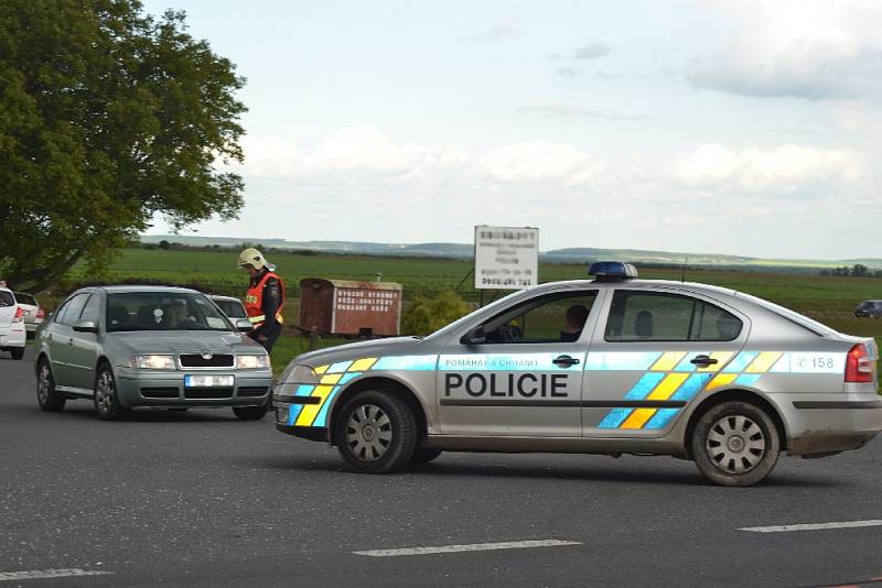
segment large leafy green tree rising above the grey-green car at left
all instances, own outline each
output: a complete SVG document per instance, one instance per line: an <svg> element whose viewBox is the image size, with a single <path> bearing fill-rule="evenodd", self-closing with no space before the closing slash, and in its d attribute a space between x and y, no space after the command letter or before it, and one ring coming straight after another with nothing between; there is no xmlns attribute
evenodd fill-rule
<svg viewBox="0 0 882 588"><path fill-rule="evenodd" d="M0 2L0 276L41 291L100 271L155 214L235 218L245 84L138 0Z"/></svg>

